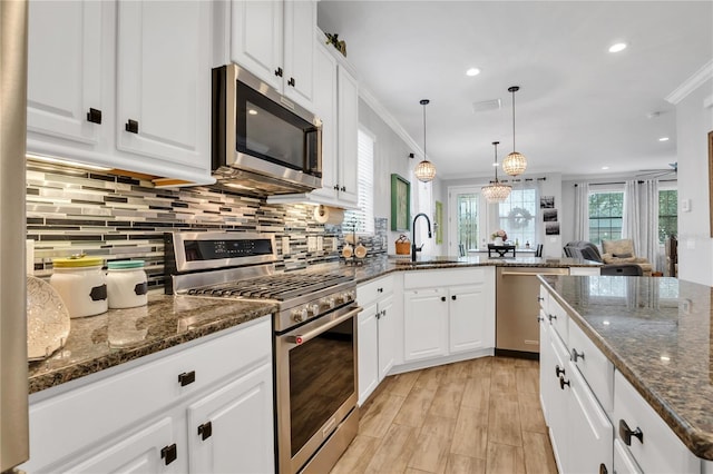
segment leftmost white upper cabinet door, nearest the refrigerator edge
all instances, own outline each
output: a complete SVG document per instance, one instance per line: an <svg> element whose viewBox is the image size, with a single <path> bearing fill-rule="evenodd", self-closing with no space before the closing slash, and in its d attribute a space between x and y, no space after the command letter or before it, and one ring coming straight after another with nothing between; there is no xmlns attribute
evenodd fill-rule
<svg viewBox="0 0 713 474"><path fill-rule="evenodd" d="M102 100L101 10L105 2L31 1L28 30L27 128L82 144L99 144L102 125L87 120L89 109L109 113ZM106 121L106 118L105 118ZM106 127L106 124L104 125ZM29 151L37 151L32 135Z"/></svg>

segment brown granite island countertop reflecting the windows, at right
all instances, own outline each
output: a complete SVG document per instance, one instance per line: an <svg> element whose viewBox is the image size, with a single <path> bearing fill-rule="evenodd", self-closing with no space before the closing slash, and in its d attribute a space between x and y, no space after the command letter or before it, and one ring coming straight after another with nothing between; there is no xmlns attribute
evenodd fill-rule
<svg viewBox="0 0 713 474"><path fill-rule="evenodd" d="M713 460L713 288L675 278L540 278L688 450Z"/></svg>

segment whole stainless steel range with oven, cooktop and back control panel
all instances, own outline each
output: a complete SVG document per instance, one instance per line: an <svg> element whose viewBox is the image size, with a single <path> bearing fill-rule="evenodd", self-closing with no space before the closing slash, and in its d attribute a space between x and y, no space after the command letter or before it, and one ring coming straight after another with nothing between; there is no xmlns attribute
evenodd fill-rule
<svg viewBox="0 0 713 474"><path fill-rule="evenodd" d="M356 435L356 285L340 273L275 271L272 235L165 235L166 293L270 300L280 473L328 472Z"/></svg>

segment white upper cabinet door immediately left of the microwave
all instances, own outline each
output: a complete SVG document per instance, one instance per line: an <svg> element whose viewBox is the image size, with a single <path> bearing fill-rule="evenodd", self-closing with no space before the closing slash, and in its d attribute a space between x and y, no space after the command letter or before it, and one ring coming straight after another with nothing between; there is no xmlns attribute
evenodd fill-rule
<svg viewBox="0 0 713 474"><path fill-rule="evenodd" d="M117 148L209 174L211 12L203 1L118 2Z"/></svg>

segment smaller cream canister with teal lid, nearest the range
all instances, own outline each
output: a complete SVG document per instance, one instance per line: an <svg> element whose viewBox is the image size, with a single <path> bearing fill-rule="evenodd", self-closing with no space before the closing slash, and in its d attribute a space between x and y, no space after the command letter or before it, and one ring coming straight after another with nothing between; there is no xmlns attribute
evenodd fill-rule
<svg viewBox="0 0 713 474"><path fill-rule="evenodd" d="M133 308L148 303L148 283L144 260L118 260L107 264L109 308Z"/></svg>

